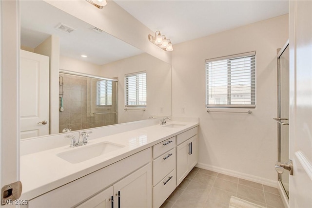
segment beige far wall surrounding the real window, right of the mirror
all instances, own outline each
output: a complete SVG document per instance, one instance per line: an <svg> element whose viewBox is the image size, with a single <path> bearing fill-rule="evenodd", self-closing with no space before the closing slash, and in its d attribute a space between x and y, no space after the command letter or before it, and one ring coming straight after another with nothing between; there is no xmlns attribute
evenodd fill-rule
<svg viewBox="0 0 312 208"><path fill-rule="evenodd" d="M287 38L284 15L175 45L173 115L199 117L199 167L267 184L277 180L276 49ZM253 113L207 113L205 59L250 51L256 51Z"/></svg>

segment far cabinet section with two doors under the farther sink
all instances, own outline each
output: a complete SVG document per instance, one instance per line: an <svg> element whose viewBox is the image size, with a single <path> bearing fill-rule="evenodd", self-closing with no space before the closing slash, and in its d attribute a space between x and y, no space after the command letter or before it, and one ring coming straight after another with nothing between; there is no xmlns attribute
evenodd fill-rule
<svg viewBox="0 0 312 208"><path fill-rule="evenodd" d="M178 186L198 161L197 127L176 136L176 186Z"/></svg>

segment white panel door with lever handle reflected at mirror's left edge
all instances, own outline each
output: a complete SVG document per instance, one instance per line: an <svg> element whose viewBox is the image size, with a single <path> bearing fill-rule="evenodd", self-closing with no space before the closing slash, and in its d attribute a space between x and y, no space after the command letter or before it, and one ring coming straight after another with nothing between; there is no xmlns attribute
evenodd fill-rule
<svg viewBox="0 0 312 208"><path fill-rule="evenodd" d="M20 138L49 134L49 57L20 50Z"/></svg>

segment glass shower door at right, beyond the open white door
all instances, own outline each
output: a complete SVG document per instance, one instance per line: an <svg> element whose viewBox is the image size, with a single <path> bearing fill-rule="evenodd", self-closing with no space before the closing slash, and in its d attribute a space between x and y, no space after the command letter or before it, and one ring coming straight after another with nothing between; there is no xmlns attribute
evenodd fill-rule
<svg viewBox="0 0 312 208"><path fill-rule="evenodd" d="M283 50L283 49L282 49ZM289 47L278 58L278 123L279 162L289 161ZM289 198L289 171L278 174L279 181Z"/></svg>

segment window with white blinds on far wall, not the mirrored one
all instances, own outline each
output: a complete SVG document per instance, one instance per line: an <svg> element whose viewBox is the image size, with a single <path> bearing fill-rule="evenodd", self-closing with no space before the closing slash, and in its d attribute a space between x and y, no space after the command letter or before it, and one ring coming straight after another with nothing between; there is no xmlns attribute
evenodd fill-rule
<svg viewBox="0 0 312 208"><path fill-rule="evenodd" d="M206 107L255 108L255 52L206 60Z"/></svg>

